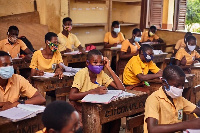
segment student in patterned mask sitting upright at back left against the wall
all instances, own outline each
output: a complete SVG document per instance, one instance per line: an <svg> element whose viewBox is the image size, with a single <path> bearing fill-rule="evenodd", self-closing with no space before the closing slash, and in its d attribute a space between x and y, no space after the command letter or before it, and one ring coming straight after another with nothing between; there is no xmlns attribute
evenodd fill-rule
<svg viewBox="0 0 200 133"><path fill-rule="evenodd" d="M63 31L58 34L58 50L61 53L71 52L74 45L80 52L84 52L76 35L70 32L72 30L72 19L69 17L64 18L62 27Z"/></svg>

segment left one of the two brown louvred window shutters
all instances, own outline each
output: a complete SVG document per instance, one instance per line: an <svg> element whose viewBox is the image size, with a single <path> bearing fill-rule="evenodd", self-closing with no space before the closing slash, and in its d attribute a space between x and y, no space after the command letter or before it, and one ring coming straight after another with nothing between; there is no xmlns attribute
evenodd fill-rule
<svg viewBox="0 0 200 133"><path fill-rule="evenodd" d="M163 0L150 0L149 26L155 25L158 29L162 28Z"/></svg>

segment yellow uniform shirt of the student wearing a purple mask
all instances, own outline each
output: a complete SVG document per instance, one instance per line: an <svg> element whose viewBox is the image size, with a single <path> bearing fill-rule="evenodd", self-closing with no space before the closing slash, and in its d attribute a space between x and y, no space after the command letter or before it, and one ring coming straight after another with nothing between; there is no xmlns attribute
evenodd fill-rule
<svg viewBox="0 0 200 133"><path fill-rule="evenodd" d="M98 84L94 84L90 80L88 68L85 67L78 71L74 76L74 82L72 87L79 89L80 92L86 92L97 87L108 86L113 81L111 77L109 77L103 70L97 74L96 82Z"/></svg>

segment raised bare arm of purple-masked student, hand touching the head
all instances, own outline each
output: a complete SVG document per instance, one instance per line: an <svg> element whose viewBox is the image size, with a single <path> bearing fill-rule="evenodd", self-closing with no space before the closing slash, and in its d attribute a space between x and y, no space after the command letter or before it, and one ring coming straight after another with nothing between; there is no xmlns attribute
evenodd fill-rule
<svg viewBox="0 0 200 133"><path fill-rule="evenodd" d="M110 83L110 86L114 87L115 89L125 90L125 87L122 84L121 80L119 79L119 77L115 74L115 72L110 67L109 59L107 57L104 57L104 61L105 61L105 67L107 68L107 70L109 71L109 73L111 74L111 76L114 80L113 82Z"/></svg>

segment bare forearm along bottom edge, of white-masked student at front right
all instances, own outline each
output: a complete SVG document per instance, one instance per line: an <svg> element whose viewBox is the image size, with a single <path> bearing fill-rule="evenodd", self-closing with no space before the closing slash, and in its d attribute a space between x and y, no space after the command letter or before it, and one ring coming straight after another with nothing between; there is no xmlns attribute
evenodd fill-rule
<svg viewBox="0 0 200 133"><path fill-rule="evenodd" d="M149 133L171 133L186 129L199 129L200 119L184 121L176 124L158 124L158 120L152 117L146 119Z"/></svg>

